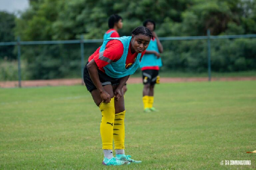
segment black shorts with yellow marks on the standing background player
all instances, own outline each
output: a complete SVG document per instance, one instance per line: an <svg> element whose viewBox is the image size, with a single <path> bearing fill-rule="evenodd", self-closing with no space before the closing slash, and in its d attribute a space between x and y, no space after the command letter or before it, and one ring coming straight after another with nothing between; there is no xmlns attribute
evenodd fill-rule
<svg viewBox="0 0 256 170"><path fill-rule="evenodd" d="M159 71L158 70L143 70L142 71L142 78L143 78L143 84L159 84L160 77L158 76Z"/></svg>

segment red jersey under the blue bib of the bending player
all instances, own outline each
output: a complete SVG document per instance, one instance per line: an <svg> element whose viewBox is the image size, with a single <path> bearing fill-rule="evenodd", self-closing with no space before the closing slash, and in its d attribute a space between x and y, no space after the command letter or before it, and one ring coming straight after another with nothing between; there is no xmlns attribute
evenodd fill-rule
<svg viewBox="0 0 256 170"><path fill-rule="evenodd" d="M116 62L122 57L124 52L124 47L121 41L119 40L110 40L104 51L99 53L100 47L89 57L88 61L92 59L96 62L99 70L105 72L104 68L106 65L111 62ZM142 52L141 57L145 54L145 51ZM137 58L138 53L131 53L131 45L129 45L128 54L126 57L125 68L130 67Z"/></svg>

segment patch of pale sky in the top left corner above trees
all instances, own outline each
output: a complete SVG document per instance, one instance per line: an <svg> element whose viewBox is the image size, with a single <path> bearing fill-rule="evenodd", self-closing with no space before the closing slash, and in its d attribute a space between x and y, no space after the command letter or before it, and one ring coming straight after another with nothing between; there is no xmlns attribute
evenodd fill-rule
<svg viewBox="0 0 256 170"><path fill-rule="evenodd" d="M0 0L0 11L16 13L17 11L24 11L28 7L28 0Z"/></svg>

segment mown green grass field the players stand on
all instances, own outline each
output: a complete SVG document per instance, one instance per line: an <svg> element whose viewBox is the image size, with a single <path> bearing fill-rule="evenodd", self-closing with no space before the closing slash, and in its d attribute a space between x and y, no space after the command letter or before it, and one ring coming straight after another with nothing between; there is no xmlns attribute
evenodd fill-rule
<svg viewBox="0 0 256 170"><path fill-rule="evenodd" d="M121 167L101 164L85 87L0 89L0 169L256 169L256 81L160 84L157 113L143 113L142 88L125 95L125 153L143 162Z"/></svg>

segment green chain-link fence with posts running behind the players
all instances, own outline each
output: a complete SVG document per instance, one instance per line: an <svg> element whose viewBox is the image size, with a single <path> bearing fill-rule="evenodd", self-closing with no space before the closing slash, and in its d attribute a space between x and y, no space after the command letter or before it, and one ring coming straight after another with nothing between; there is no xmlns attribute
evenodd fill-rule
<svg viewBox="0 0 256 170"><path fill-rule="evenodd" d="M164 52L161 71L195 73L208 76L215 73L256 71L256 34L200 37L160 37ZM20 41L0 42L14 48L17 62L2 59L1 80L60 79L82 77L88 57L103 40ZM1 48L2 49L2 48ZM212 72L213 71L213 72ZM140 72L140 71L138 71Z"/></svg>

